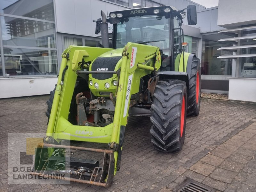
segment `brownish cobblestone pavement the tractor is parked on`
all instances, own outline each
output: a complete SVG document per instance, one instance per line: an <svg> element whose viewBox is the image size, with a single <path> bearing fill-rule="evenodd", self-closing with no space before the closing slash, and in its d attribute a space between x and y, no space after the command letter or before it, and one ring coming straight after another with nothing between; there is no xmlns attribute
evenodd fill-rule
<svg viewBox="0 0 256 192"><path fill-rule="evenodd" d="M0 100L0 191L175 191L186 178L215 191L256 190L256 104L205 99L189 117L180 153L162 153L150 142L149 118L132 117L125 133L121 169L110 188L70 185L8 185L8 133L46 131L46 100ZM92 147L93 145L83 146Z"/></svg>

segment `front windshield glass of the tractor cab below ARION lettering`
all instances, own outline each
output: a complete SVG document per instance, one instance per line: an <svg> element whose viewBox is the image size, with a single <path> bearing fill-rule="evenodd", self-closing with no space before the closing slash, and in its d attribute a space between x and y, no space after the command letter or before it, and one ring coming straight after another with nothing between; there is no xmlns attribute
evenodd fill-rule
<svg viewBox="0 0 256 192"><path fill-rule="evenodd" d="M169 49L169 20L156 15L122 18L117 24L116 48L133 42Z"/></svg>

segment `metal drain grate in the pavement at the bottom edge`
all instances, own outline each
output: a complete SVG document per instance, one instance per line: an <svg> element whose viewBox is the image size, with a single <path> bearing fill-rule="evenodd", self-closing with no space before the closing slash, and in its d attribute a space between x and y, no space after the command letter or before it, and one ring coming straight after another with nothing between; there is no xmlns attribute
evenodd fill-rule
<svg viewBox="0 0 256 192"><path fill-rule="evenodd" d="M182 186L182 188L180 188ZM177 186L178 187L178 186ZM198 183L191 179L186 179L179 185L178 192L212 192L212 188Z"/></svg>

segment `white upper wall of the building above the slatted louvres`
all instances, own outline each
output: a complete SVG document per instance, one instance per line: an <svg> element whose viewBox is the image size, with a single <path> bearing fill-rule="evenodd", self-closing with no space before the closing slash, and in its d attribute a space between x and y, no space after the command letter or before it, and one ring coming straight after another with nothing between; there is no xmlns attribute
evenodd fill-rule
<svg viewBox="0 0 256 192"><path fill-rule="evenodd" d="M219 0L218 25L236 28L256 23L255 0Z"/></svg>

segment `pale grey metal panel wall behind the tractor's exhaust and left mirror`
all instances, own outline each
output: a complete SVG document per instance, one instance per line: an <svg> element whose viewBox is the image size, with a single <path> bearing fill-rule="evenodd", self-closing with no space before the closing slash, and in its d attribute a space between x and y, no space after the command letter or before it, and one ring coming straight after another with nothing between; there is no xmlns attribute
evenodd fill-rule
<svg viewBox="0 0 256 192"><path fill-rule="evenodd" d="M124 10L126 7L100 0L55 0L57 32L83 36L96 36L95 23L100 11Z"/></svg>

